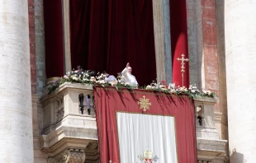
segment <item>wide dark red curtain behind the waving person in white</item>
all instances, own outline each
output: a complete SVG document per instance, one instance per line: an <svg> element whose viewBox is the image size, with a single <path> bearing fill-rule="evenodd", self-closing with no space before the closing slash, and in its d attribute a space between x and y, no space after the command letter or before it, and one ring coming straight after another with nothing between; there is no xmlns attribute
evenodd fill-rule
<svg viewBox="0 0 256 163"><path fill-rule="evenodd" d="M130 63L140 86L156 78L152 1L70 1L72 67L116 76Z"/></svg>

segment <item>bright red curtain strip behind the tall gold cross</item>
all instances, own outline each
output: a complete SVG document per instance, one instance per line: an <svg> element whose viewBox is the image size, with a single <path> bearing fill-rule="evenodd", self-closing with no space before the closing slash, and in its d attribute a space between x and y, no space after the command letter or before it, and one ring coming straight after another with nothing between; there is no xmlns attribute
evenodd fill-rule
<svg viewBox="0 0 256 163"><path fill-rule="evenodd" d="M189 86L189 62L185 62L184 81L182 80L181 61L177 58L188 58L187 45L187 7L186 0L169 0L171 47L173 58L173 83L176 86Z"/></svg>

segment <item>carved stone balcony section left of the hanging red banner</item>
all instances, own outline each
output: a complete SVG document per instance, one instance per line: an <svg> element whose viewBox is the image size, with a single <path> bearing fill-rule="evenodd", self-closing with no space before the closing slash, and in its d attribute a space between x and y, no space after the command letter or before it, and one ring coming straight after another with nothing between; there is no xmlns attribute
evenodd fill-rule
<svg viewBox="0 0 256 163"><path fill-rule="evenodd" d="M79 95L83 95L83 114ZM87 95L91 97L89 104ZM44 123L40 147L50 157L48 162L98 162L92 86L64 83L55 92L43 96L40 103ZM88 105L91 114L86 109Z"/></svg>

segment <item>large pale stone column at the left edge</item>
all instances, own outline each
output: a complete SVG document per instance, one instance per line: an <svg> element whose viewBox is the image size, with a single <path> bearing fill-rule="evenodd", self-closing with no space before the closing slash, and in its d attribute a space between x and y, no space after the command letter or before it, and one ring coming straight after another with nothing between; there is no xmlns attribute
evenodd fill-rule
<svg viewBox="0 0 256 163"><path fill-rule="evenodd" d="M33 162L27 0L0 1L0 161Z"/></svg>

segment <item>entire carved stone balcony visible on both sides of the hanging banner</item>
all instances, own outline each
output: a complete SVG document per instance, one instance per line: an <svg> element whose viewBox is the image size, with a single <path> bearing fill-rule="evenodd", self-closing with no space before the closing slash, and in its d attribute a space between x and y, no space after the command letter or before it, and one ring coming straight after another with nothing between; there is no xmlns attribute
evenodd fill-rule
<svg viewBox="0 0 256 163"><path fill-rule="evenodd" d="M44 116L40 147L49 156L48 162L99 162L92 86L65 82L40 103ZM198 162L223 162L225 158L227 141L219 139L215 128L215 103L207 97L194 100Z"/></svg>

